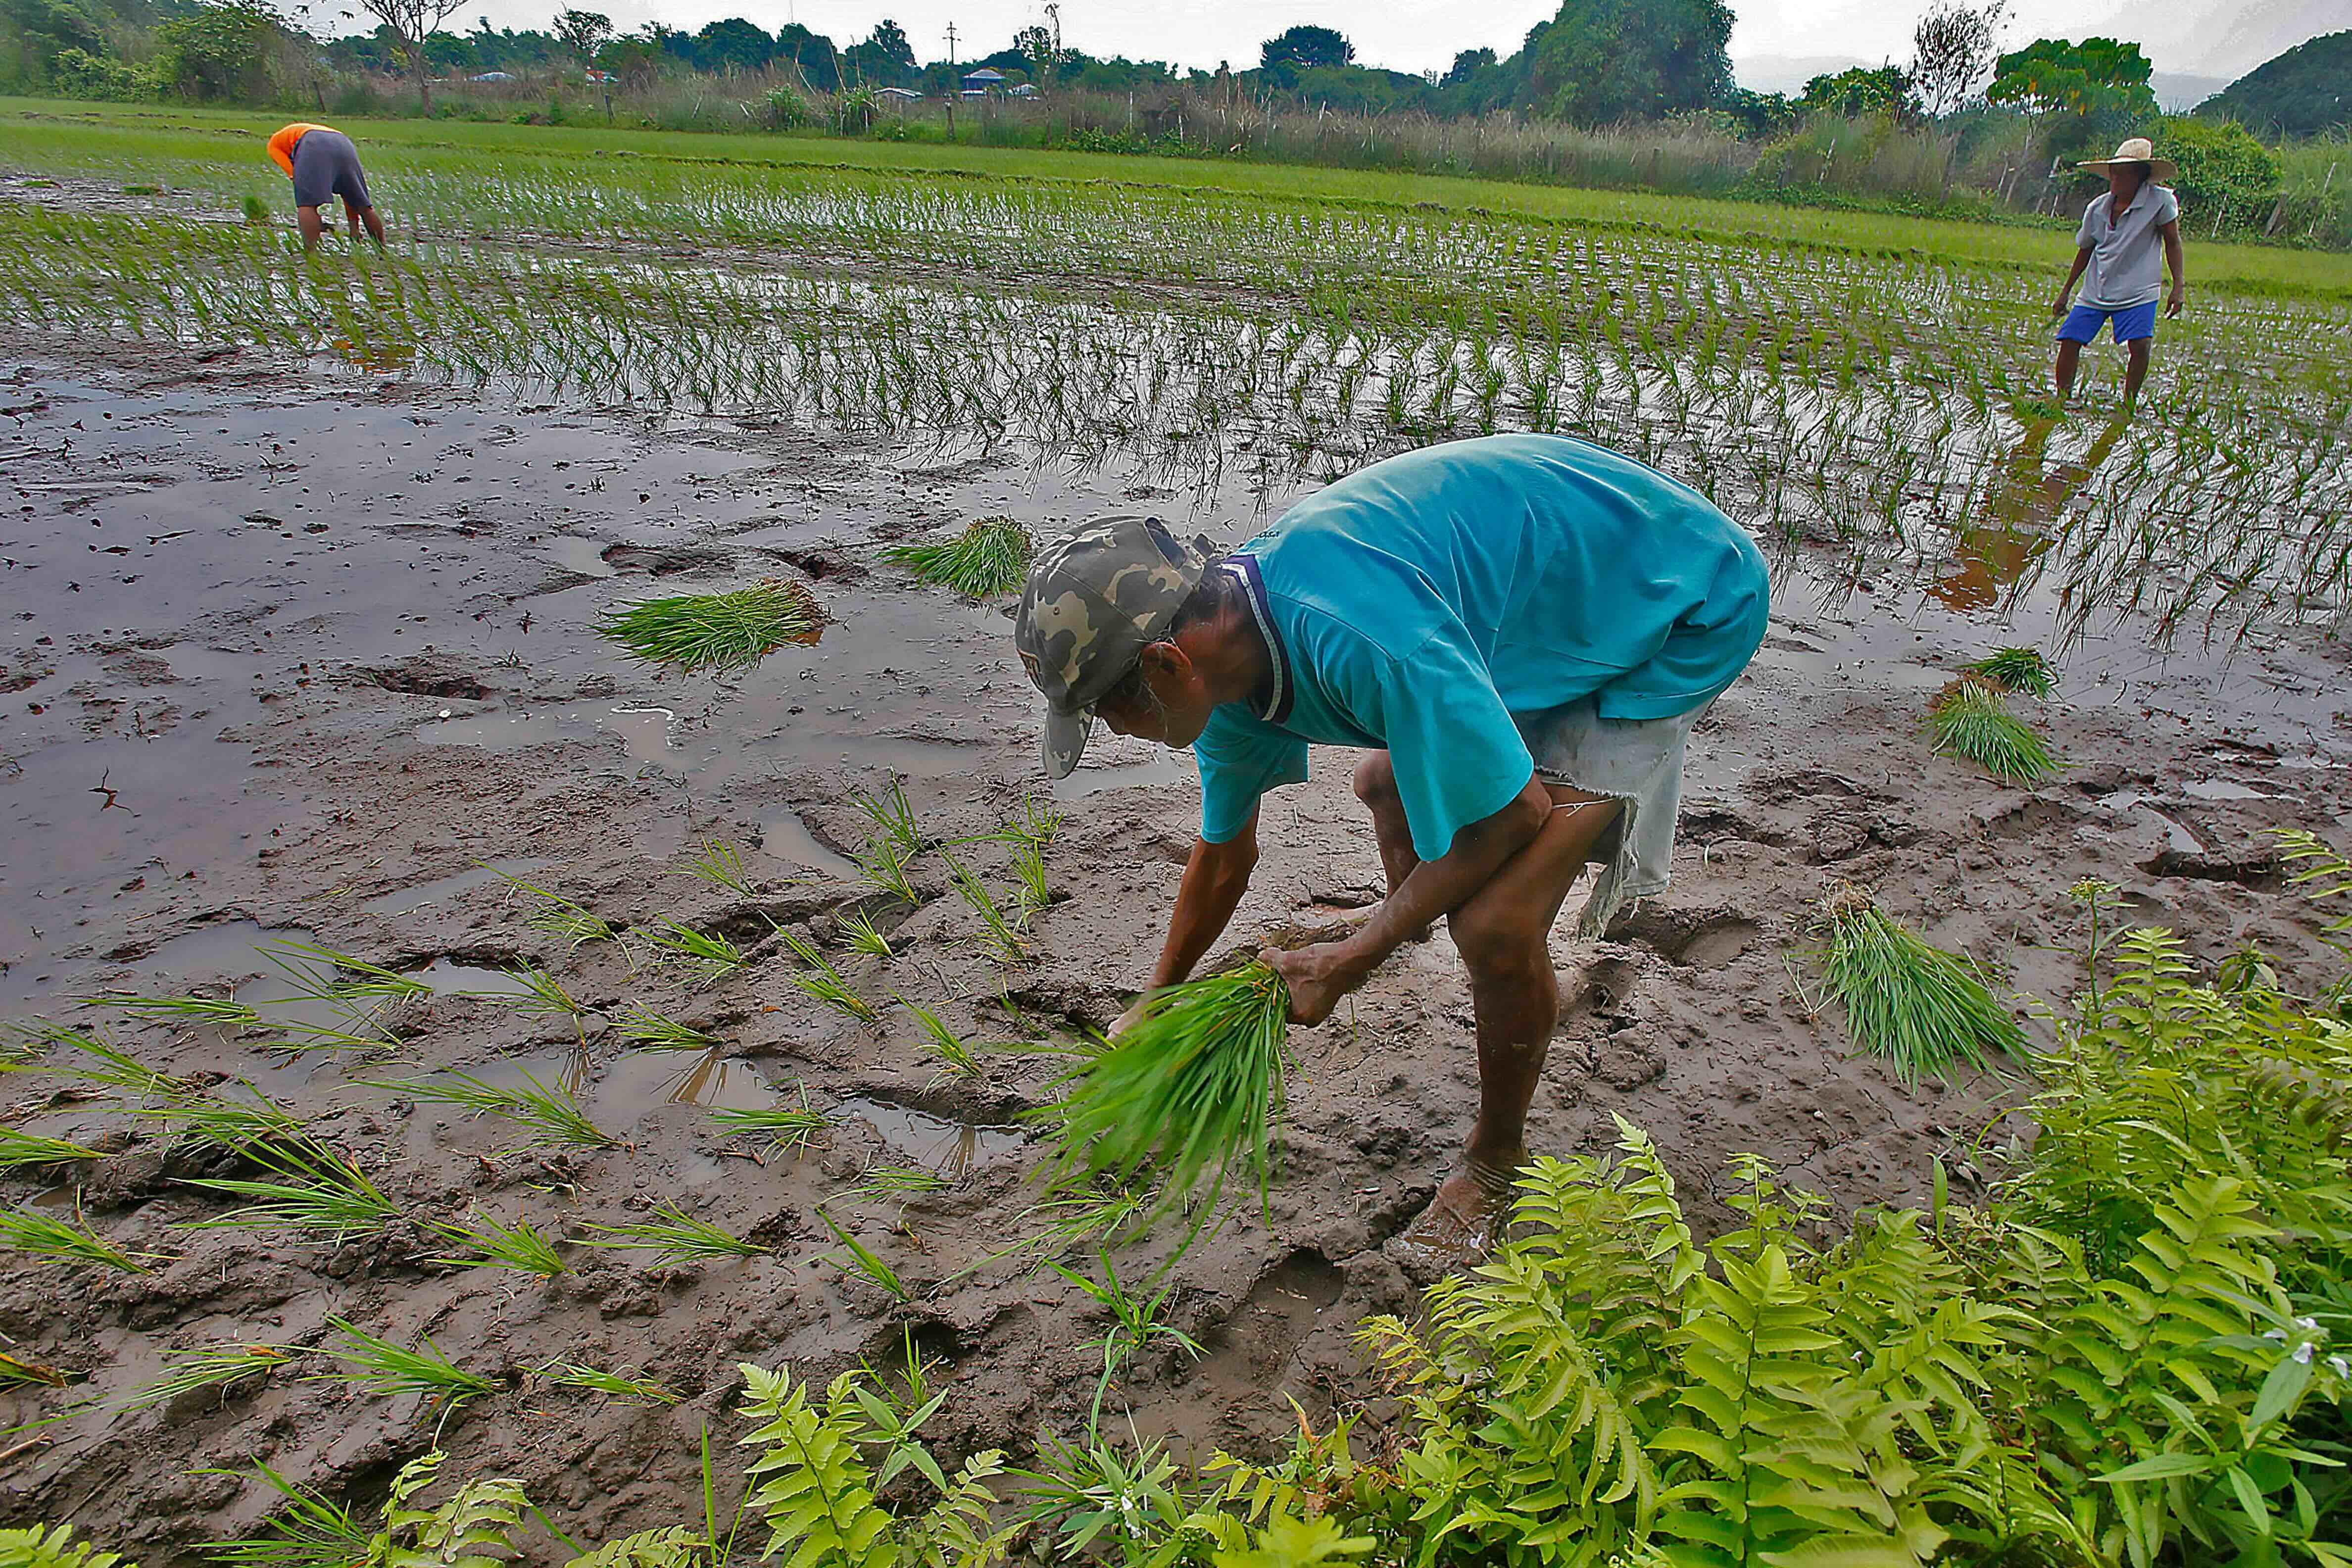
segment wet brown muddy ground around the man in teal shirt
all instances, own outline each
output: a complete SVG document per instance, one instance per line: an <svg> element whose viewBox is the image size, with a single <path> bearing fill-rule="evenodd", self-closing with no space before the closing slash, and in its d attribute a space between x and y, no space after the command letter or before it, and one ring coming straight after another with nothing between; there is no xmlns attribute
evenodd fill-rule
<svg viewBox="0 0 2352 1568"><path fill-rule="evenodd" d="M699 1516L696 1434L741 1434L739 1361L823 1378L896 1354L913 1331L953 1385L934 1425L946 1453L1018 1455L1040 1432L1084 1427L1101 1314L1051 1274L974 1269L1023 1234L1037 1145L1018 1114L1047 1098L1058 1058L1007 1051L983 1079L938 1079L906 1009L866 1027L786 985L769 919L828 945L870 999L938 1006L976 1041L1049 1041L1112 1018L1148 971L1192 839L1190 771L1096 748L1049 853L1063 898L1014 969L976 945L938 853L917 863L920 910L844 879L868 832L856 790L906 778L936 837L985 832L1042 795L1007 607L913 585L877 545L990 512L1051 531L1115 505L1232 543L1284 491L1195 508L1117 470L950 463L757 421L520 407L397 374L54 341L7 348L0 414L5 1013L78 1018L68 999L106 990L282 997L254 952L273 938L423 971L442 994L388 1060L115 1032L172 1072L247 1077L299 1107L419 1220L527 1215L579 1237L675 1199L771 1248L654 1267L567 1246L572 1272L541 1284L435 1265L445 1248L416 1225L348 1246L183 1229L226 1213L176 1180L205 1171L118 1105L7 1077L9 1126L108 1150L9 1178L7 1201L78 1201L106 1237L172 1262L111 1276L7 1255L0 1349L85 1382L5 1396L0 1420L127 1394L172 1349L318 1345L341 1316L402 1342L430 1335L496 1375L501 1392L440 1432L452 1472L522 1476L583 1542ZM588 630L656 585L757 576L807 581L833 625L741 679L654 677ZM1630 1117L1656 1133L1703 1225L1722 1222L1722 1168L1743 1150L1842 1206L1919 1197L1938 1154L1976 1171L1971 1145L2018 1086L1903 1088L1849 1060L1837 1020L1809 1004L1806 926L1839 882L1875 886L2027 994L2063 997L2079 978L2065 889L2082 877L2119 884L2138 919L2185 931L2209 959L2253 940L2291 983L2326 973L2263 830L2340 837L2352 823L2340 644L2296 632L2218 658L2157 656L2133 625L2093 635L2067 651L2046 715L2070 769L2020 792L1931 757L1919 715L1962 658L2042 639L2049 616L2027 597L1994 625L1945 604L1985 595L1922 588L1832 590L1802 562L1783 576L1764 654L1700 729L1675 889L1599 947L1573 945L1571 922L1555 938L1569 1004L1538 1150L1602 1150L1611 1117ZM1319 755L1315 783L1268 802L1237 936L1376 898L1345 764ZM708 839L743 846L755 900L680 870ZM1002 846L957 853L1009 891ZM524 926L527 903L482 863L616 924L724 931L753 961L691 985L612 945L567 952ZM898 957L840 947L833 922L849 907L870 910ZM600 1016L576 1032L466 994L503 987L496 971L517 964L548 966ZM609 1020L623 1004L724 1046L630 1048ZM1141 1432L1202 1455L1279 1441L1284 1396L1317 1418L1369 1399L1364 1432L1378 1432L1388 1406L1350 1328L1414 1307L1418 1281L1392 1239L1475 1103L1470 1001L1442 933L1294 1044L1270 1222L1244 1206L1174 1272L1169 1316L1207 1361L1155 1354L1112 1396ZM626 1143L517 1152L508 1124L355 1081L435 1067L562 1077ZM710 1107L797 1103L802 1086L840 1117L804 1157L760 1164L715 1133ZM849 1194L877 1164L922 1164L953 1185L906 1204ZM842 1276L818 1204L898 1269L915 1307ZM1136 1246L1122 1272L1164 1251ZM654 1378L682 1403L628 1406L529 1375L550 1359ZM249 1479L198 1472L268 1462L372 1500L433 1429L414 1399L278 1373L0 1441L0 1521L73 1521L151 1566L193 1561L270 1505Z"/></svg>

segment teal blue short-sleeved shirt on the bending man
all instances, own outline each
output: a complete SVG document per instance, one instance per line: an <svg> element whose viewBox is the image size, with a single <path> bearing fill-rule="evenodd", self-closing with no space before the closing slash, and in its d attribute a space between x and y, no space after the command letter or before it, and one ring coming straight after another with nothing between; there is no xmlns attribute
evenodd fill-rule
<svg viewBox="0 0 2352 1568"><path fill-rule="evenodd" d="M1764 642L1769 574L1698 491L1604 447L1489 435L1322 489L1242 545L1275 658L1265 710L1223 703L1192 745L1200 837L1308 776L1308 743L1388 750L1437 860L1536 771L1512 715L1583 696L1604 719L1715 701Z"/></svg>

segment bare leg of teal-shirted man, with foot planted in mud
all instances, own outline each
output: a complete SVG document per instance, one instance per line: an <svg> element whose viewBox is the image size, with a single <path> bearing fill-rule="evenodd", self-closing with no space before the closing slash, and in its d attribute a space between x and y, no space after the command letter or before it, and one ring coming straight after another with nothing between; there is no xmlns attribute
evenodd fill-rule
<svg viewBox="0 0 2352 1568"><path fill-rule="evenodd" d="M1414 1225L1414 1239L1432 1246L1484 1239L1526 1164L1526 1107L1559 1023L1552 922L1621 811L1616 802L1566 785L1550 790L1557 809L1536 842L1446 917L1470 971L1479 1112L1461 1168Z"/></svg>

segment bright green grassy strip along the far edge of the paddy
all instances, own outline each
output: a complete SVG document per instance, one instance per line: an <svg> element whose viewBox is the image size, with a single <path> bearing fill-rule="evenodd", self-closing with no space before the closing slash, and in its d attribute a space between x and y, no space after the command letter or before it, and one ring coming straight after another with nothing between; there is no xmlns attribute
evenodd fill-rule
<svg viewBox="0 0 2352 1568"><path fill-rule="evenodd" d="M151 158L186 155L191 141L212 143L221 132L268 134L278 115L195 108L82 106L35 99L0 99L0 165L40 169L45 160L73 158L78 172L106 174L148 167ZM1406 207L1432 202L1454 212L1489 212L1583 226L1635 228L1658 235L1693 235L1729 242L1804 244L1839 252L1919 256L1971 266L2058 268L2070 254L2065 228L1959 223L1893 214L1773 207L1646 193L1515 186L1503 181L1383 174L1359 169L1310 169L1174 158L1120 158L1105 153L1044 153L1025 148L964 148L889 141L835 141L814 136L713 136L699 132L633 132L595 127L532 127L459 120L355 120L353 129L372 160L386 153L461 160L553 158L595 160L612 155L654 162L708 162L753 169L844 169L873 174L967 174L1018 183L1134 183L1150 190L1221 190L1263 200L1355 202ZM61 150L61 143L73 150ZM256 179L242 188L270 190L261 148L252 148ZM383 169L395 165L379 162ZM280 190L282 195L282 190ZM390 195L386 195L390 202ZM2192 282L2216 289L2258 289L2352 299L2352 256L2291 252L2251 244L2197 244ZM2051 292L2056 292L2056 280Z"/></svg>

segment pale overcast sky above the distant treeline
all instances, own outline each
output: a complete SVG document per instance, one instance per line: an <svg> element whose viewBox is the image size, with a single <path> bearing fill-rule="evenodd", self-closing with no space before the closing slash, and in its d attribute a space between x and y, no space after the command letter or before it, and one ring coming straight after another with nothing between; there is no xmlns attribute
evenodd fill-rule
<svg viewBox="0 0 2352 1568"><path fill-rule="evenodd" d="M461 9L454 28L477 14L492 26L546 26L564 0L482 0ZM621 31L644 21L699 28L717 16L750 16L764 28L800 21L837 42L863 38L877 16L894 16L924 59L1002 49L1011 33L1042 14L1042 0L576 0L607 9ZM327 0L329 14L341 0ZM1907 59L1910 28L1924 0L1731 0L1738 26L1733 61L1785 56ZM1294 21L1338 26L1357 59L1395 71L1432 71L1456 49L1510 54L1526 28L1559 0L1063 0L1063 42L1089 54L1131 54L1178 66L1256 63L1258 40ZM2013 0L2009 40L2122 33L2140 40L2159 71L2234 75L2314 33L2352 28L2352 0Z"/></svg>

